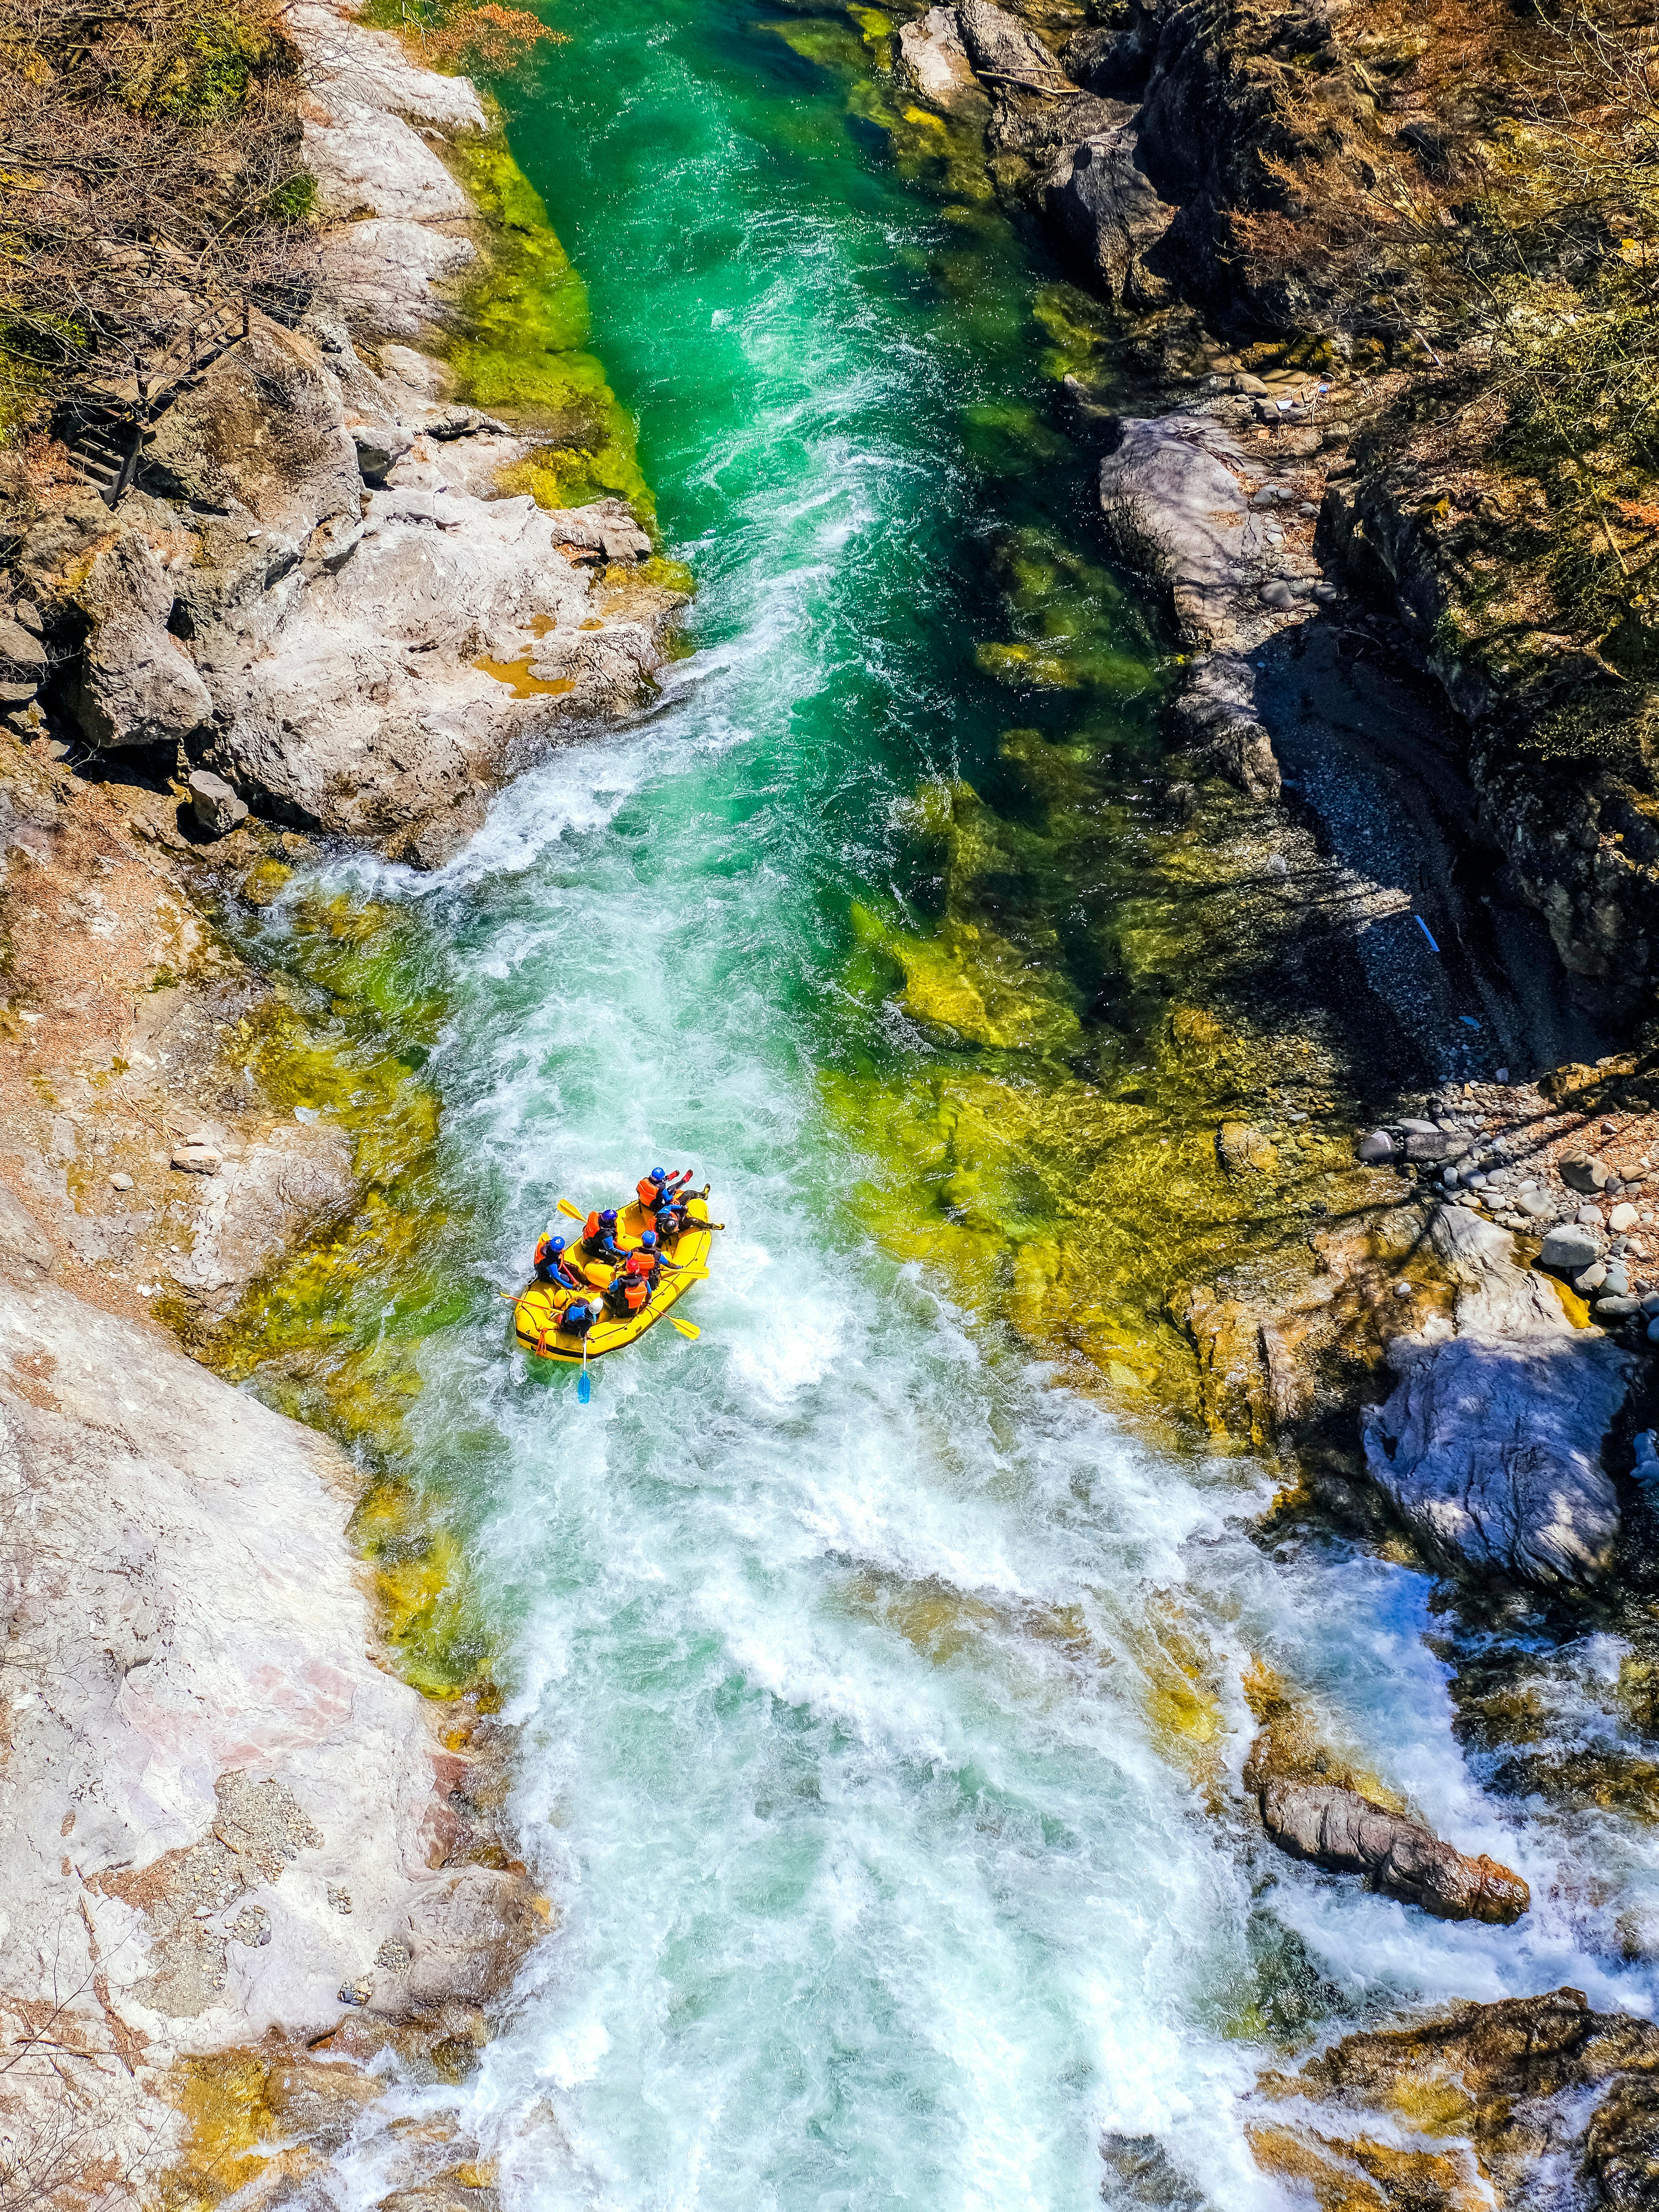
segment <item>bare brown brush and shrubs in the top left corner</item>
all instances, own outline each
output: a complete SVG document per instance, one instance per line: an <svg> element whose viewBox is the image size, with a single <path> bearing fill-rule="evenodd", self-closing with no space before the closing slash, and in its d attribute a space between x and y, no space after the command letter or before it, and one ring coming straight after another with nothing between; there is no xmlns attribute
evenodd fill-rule
<svg viewBox="0 0 1659 2212"><path fill-rule="evenodd" d="M0 436L310 281L279 0L0 0Z"/></svg>

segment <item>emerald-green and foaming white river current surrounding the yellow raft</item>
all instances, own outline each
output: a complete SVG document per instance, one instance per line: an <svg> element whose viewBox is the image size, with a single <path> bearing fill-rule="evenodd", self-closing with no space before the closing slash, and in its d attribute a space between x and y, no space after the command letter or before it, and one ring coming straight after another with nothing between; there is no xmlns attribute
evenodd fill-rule
<svg viewBox="0 0 1659 2212"><path fill-rule="evenodd" d="M1263 1555L1265 1478L1133 1440L852 1223L860 1133L818 1071L927 1046L847 989L849 898L925 902L896 803L989 772L1015 719L971 659L991 531L1086 526L1086 456L1042 427L1046 272L891 175L745 9L560 22L515 146L701 577L697 653L445 876L345 878L447 938L429 1073L480 1283L653 1161L730 1228L701 1340L653 1332L588 1409L482 1294L422 1354L418 1451L471 1526L564 1916L469 2117L513 2205L1068 2212L1102 2130L1272 2203L1237 2099L1274 2035L1562 1980L1646 2011L1608 1936L1646 1845L1500 1823L1422 1577ZM1256 1856L1252 1659L1520 1867L1522 1929Z"/></svg>

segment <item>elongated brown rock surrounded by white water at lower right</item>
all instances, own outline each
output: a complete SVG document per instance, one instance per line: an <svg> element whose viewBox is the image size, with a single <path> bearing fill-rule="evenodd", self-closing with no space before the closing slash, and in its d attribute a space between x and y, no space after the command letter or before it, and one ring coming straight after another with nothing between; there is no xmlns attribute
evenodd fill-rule
<svg viewBox="0 0 1659 2212"><path fill-rule="evenodd" d="M1272 1781L1261 1792L1261 1823L1281 1851L1336 1874L1363 1874L1367 1887L1442 1920L1506 1927L1531 1905L1526 1882L1495 1858L1464 1858L1420 1820L1371 1805L1356 1790Z"/></svg>

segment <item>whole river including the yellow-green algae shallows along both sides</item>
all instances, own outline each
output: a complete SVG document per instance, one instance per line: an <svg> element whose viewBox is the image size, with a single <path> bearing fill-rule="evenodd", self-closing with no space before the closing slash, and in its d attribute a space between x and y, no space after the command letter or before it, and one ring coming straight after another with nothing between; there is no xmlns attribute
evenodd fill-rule
<svg viewBox="0 0 1659 2212"><path fill-rule="evenodd" d="M1327 1237L1440 1312L1356 1135L1628 1020L1471 845L1444 703L1383 630L1259 661L1283 807L1170 792L1188 653L1097 489L1113 416L1157 411L1144 363L896 88L887 15L551 20L511 153L637 425L637 471L624 438L568 504L633 498L695 595L648 703L420 865L307 825L223 876L226 945L327 1042L272 1095L378 1166L228 1327L157 1307L352 1455L387 1668L500 1743L515 1840L480 1863L551 1927L465 2064L383 2059L288 2199L243 2130L237 2188L1493 2201L1462 2108L1402 2095L1356 2150L1292 2070L1562 1989L1650 2033L1646 1606L1438 1575L1356 1504L1374 1316L1298 1451L1272 1354L1234 1389L1203 1316L1223 1279L1305 1316ZM1239 1124L1272 1175L1219 1152ZM502 1294L562 1199L650 1161L726 1223L701 1336L577 1405ZM1509 1869L1524 1916L1276 1849L1267 1739ZM1575 2126L1500 2201L1586 2201ZM422 2130L469 2146L425 2192Z"/></svg>

